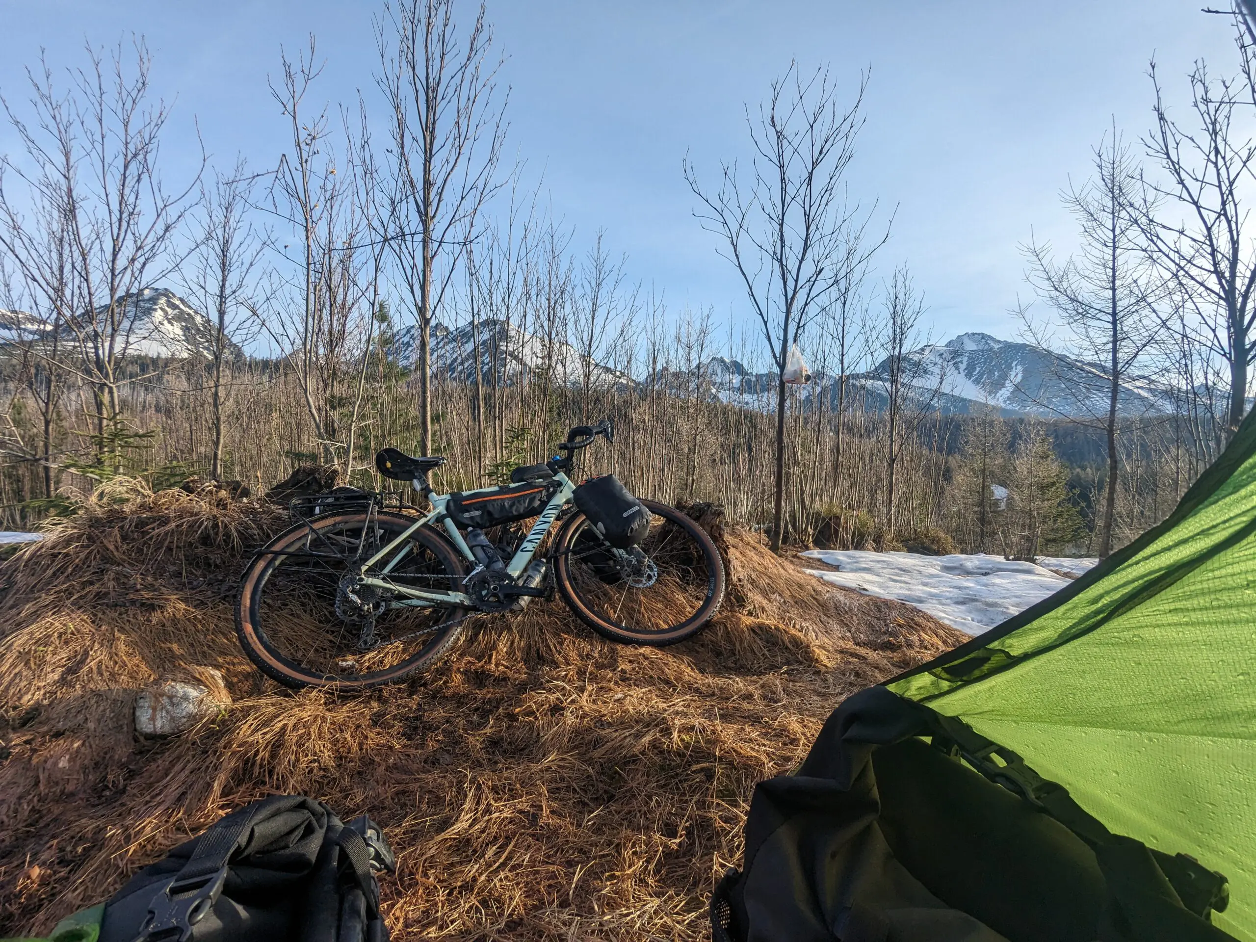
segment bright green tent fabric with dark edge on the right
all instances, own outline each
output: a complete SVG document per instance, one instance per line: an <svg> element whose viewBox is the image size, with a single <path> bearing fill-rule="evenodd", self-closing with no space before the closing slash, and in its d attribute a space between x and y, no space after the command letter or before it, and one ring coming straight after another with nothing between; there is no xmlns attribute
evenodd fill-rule
<svg viewBox="0 0 1256 942"><path fill-rule="evenodd" d="M1064 785L1109 830L1230 880L1256 942L1256 422L1159 526L887 685Z"/></svg>

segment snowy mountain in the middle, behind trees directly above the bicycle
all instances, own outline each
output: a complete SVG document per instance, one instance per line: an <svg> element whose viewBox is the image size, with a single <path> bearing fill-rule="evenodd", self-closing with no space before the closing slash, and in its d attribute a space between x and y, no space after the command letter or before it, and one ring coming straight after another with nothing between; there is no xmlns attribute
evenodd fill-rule
<svg viewBox="0 0 1256 942"><path fill-rule="evenodd" d="M482 320L476 332L470 324L452 329L443 324L432 325L433 372L475 382L477 349L480 377L486 383L514 384L529 376L549 372L554 382L575 386L584 382L587 363L595 387L627 387L633 382L627 373L589 360L570 344L548 343L505 320ZM416 328L409 325L398 330L388 345L389 358L411 365L416 354Z"/></svg>

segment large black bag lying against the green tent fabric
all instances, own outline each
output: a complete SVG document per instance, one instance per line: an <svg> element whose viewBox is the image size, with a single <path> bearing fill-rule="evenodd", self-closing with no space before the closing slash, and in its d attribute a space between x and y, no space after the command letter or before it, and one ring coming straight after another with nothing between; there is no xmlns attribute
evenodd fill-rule
<svg viewBox="0 0 1256 942"><path fill-rule="evenodd" d="M796 775L756 786L711 921L715 942L1220 942L1226 892L966 723L873 687Z"/></svg>

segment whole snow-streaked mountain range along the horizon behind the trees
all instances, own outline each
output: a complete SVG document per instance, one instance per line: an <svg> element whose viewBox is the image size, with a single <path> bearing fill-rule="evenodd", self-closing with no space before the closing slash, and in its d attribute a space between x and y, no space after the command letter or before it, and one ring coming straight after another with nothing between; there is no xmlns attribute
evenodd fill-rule
<svg viewBox="0 0 1256 942"><path fill-rule="evenodd" d="M144 289L123 298L128 325L122 335L122 355L168 359L208 357L215 327L203 314L165 288ZM18 310L0 310L0 343L40 340L53 325ZM476 337L476 333L479 337ZM60 328L73 339L68 325ZM388 338L386 355L413 365L416 329L407 325ZM244 355L227 340L230 357ZM471 325L432 325L432 369L461 382L476 376L489 383L515 384L548 374L563 386L589 382L599 389L631 389L641 384L622 369L587 357L563 340L549 342L520 329L517 324L486 319ZM888 401L889 360L844 378L818 372L800 388L804 403L825 402L835 408L863 399L865 408L884 408ZM928 402L943 414L971 414L993 409L1004 417L1095 418L1108 412L1109 387L1103 368L1095 363L1020 340L1002 340L982 332L966 332L951 340L926 344L904 355L901 374L907 377L907 396ZM653 378L654 382L659 377ZM664 386L705 387L712 399L750 408L770 409L776 389L774 372L751 372L730 357L711 357L691 371L662 374ZM1122 417L1166 414L1174 407L1174 391L1162 383L1130 377L1122 384L1117 411Z"/></svg>

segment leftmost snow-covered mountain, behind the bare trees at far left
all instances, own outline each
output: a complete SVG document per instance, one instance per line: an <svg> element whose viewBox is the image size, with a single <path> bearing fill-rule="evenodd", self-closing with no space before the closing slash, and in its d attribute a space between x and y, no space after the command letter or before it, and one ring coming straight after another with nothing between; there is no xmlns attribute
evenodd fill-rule
<svg viewBox="0 0 1256 942"><path fill-rule="evenodd" d="M123 322L117 333L118 353L123 357L161 357L187 359L208 357L214 349L215 327L207 317L196 310L166 288L146 288L122 300ZM104 308L97 308L97 318ZM84 318L82 329L90 335L92 318ZM41 340L49 338L54 325L20 310L0 310L0 343ZM62 337L77 342L78 332L69 324L60 328ZM227 340L227 355L242 355Z"/></svg>

